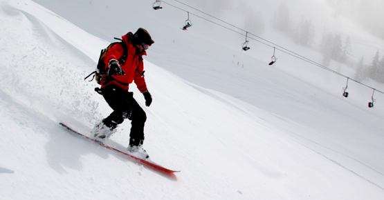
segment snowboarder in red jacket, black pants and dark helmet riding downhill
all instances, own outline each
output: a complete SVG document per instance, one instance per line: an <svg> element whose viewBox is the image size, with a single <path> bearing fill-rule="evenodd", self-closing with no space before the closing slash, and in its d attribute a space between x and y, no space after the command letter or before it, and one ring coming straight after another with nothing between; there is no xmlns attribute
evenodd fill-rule
<svg viewBox="0 0 384 200"><path fill-rule="evenodd" d="M96 138L108 139L116 132L118 124L129 119L131 132L127 150L148 158L147 152L143 149L144 124L147 115L134 99L134 93L128 92L128 89L129 84L134 81L138 90L144 95L145 106L151 105L152 96L148 92L144 79L143 55L147 55L145 50L154 41L144 28L139 28L135 34L128 32L122 36L122 41L127 49L127 59L124 63L118 61L125 48L120 43L109 48L104 57L108 76L106 80L101 81L101 92L113 112L97 123L91 132Z"/></svg>

